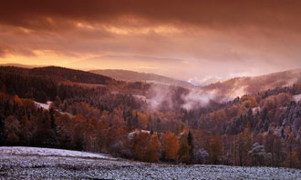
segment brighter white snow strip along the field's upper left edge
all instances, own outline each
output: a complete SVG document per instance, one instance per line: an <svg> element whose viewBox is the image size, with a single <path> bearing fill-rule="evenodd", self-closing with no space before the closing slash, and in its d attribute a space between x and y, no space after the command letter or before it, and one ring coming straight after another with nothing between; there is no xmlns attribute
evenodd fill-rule
<svg viewBox="0 0 301 180"><path fill-rule="evenodd" d="M64 149L52 149L52 148L41 148L41 147L22 147L14 146L0 147L0 154L2 155L47 155L47 156L65 156L65 157L82 157L82 158L98 158L98 159L114 159L109 155L101 155L80 151L71 151Z"/></svg>

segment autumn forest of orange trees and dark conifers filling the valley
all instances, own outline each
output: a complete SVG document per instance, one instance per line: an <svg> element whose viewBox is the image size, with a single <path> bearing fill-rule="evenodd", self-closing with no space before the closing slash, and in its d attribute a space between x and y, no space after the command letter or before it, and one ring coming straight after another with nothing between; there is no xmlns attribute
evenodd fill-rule
<svg viewBox="0 0 301 180"><path fill-rule="evenodd" d="M148 99L162 92L154 108ZM62 67L0 67L0 145L144 162L301 168L301 84L184 108L190 92ZM48 109L37 105L48 101Z"/></svg>

